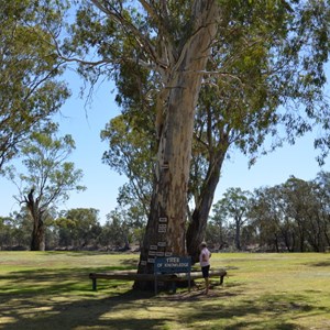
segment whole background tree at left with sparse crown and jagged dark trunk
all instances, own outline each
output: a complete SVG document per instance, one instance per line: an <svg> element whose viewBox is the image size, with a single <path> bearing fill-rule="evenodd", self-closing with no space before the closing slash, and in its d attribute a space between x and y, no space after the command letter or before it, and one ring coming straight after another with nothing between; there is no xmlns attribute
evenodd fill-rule
<svg viewBox="0 0 330 330"><path fill-rule="evenodd" d="M70 135L57 139L56 130L57 125L53 124L47 133L32 133L21 146L28 174L19 174L24 187L16 199L26 206L32 217L32 251L45 249L45 221L51 209L67 200L69 191L85 189L78 185L81 170L75 169L74 163L65 162L75 148L74 140ZM14 180L14 172L11 178Z"/></svg>

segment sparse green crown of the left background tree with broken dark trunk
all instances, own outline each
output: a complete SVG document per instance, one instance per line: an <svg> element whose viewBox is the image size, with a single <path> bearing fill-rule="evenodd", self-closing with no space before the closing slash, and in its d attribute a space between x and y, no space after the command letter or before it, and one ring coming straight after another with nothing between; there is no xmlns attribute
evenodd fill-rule
<svg viewBox="0 0 330 330"><path fill-rule="evenodd" d="M70 135L56 138L57 125L52 124L45 133L32 133L31 139L21 144L21 155L26 172L15 174L23 188L20 190L20 201L33 189L38 208L50 210L56 204L67 200L72 190L81 191L86 188L78 183L82 178L81 169L75 169L74 163L65 162L75 148Z"/></svg>

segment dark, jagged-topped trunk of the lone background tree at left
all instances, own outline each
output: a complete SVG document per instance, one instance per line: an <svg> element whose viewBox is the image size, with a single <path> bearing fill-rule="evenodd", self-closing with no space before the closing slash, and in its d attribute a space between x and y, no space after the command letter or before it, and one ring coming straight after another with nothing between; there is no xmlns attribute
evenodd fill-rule
<svg viewBox="0 0 330 330"><path fill-rule="evenodd" d="M31 251L45 251L45 226L43 221L43 211L40 209L38 200L34 200L34 189L25 198L26 207L33 220L33 230L31 238Z"/></svg>

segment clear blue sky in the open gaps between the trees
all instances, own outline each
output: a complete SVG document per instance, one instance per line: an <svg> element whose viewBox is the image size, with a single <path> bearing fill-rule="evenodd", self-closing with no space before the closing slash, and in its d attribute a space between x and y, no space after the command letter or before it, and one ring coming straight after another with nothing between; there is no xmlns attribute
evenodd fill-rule
<svg viewBox="0 0 330 330"><path fill-rule="evenodd" d="M82 184L87 190L73 193L65 205L58 205L58 209L95 208L100 210L100 222L105 223L106 215L117 205L118 188L125 182L125 177L119 176L101 162L107 143L101 142L100 130L119 113L113 101L114 94L111 92L113 85L105 81L96 88L92 102L86 106L85 100L79 98L81 81L78 76L72 72L66 75L66 78L73 96L56 120L61 124L61 134L72 134L76 141L76 150L69 161L75 163L76 168L84 170ZM316 162L317 152L314 150L312 140L312 134L309 134L298 140L295 145L286 145L263 156L251 169L248 166L248 158L239 152L234 153L223 165L215 201L220 199L230 187L241 187L252 191L262 186L285 183L290 175L305 180L314 179L321 168ZM327 158L322 169L330 170L329 165ZM0 216L8 216L19 210L19 205L12 197L16 194L16 187L0 177Z"/></svg>

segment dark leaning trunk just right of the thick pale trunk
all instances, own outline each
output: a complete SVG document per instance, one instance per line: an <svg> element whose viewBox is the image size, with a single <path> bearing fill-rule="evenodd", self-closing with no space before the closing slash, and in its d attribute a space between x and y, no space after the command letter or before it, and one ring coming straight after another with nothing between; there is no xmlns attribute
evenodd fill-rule
<svg viewBox="0 0 330 330"><path fill-rule="evenodd" d="M187 251L191 256L193 263L199 257L199 245L205 239L209 212L213 202L215 191L220 179L220 172L224 160L227 148L221 148L216 157L216 162L209 166L205 185L199 196L199 202L196 206L191 221L187 229Z"/></svg>

